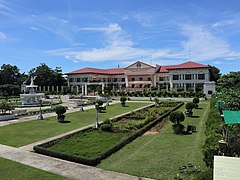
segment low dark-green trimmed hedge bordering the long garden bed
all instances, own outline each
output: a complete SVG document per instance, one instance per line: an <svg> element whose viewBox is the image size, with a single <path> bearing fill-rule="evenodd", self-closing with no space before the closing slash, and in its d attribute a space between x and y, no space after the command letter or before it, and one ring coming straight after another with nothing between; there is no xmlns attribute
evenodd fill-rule
<svg viewBox="0 0 240 180"><path fill-rule="evenodd" d="M162 116L160 116L156 120L148 123L146 126L137 130L136 132L134 132L133 134L131 134L127 138L123 139L122 141L120 141L116 145L112 146L111 148L107 149L105 152L101 153L100 155L92 157L92 158L87 158L87 157L83 157L83 156L74 156L74 155L59 153L59 152L55 152L55 151L47 149L48 147L50 147L50 146L54 145L55 143L57 143L58 141L60 141L61 139L70 138L71 136L73 136L75 134L78 134L80 132L85 132L87 130L91 130L92 129L91 127L87 128L87 129L84 129L80 132L75 132L73 134L70 134L70 135L67 135L67 136L64 136L64 137L61 137L61 138L58 138L58 139L55 139L55 140L37 145L37 146L34 146L33 149L34 149L35 152L40 153L40 154L44 154L44 155L48 155L48 156L51 156L51 157L56 157L56 158L72 161L72 162L77 162L77 163L81 163L81 164L85 164L85 165L95 166L95 165L99 164L101 162L101 160L106 159L111 154L117 152L118 150L123 148L125 145L129 144L130 142L132 142L133 140L135 140L139 136L143 135L146 131L150 130L156 124L161 122L164 118L168 117L169 114L172 111L175 111L176 109L180 108L183 104L184 104L183 102L178 104L175 108L166 112L165 114L163 114ZM121 118L121 117L118 117L116 119L119 119L119 118ZM113 119L113 121L115 121L116 119Z"/></svg>

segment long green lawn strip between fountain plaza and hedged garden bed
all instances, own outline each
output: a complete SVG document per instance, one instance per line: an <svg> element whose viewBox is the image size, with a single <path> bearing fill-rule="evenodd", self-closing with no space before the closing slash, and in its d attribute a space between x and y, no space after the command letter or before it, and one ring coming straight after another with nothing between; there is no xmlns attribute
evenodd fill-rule
<svg viewBox="0 0 240 180"><path fill-rule="evenodd" d="M127 102L127 107L115 104L107 107L106 113L99 113L99 121L143 107L148 103ZM0 143L20 147L53 137L95 122L96 111L91 109L84 112L66 114L66 121L70 123L58 123L56 117L45 120L33 120L0 127Z"/></svg>

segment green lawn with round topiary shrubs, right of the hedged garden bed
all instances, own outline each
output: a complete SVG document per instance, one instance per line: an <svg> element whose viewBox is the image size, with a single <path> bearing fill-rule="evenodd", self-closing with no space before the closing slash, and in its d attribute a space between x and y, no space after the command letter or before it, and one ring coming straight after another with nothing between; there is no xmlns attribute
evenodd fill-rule
<svg viewBox="0 0 240 180"><path fill-rule="evenodd" d="M102 161L98 167L154 179L173 179L179 173L178 168L188 163L200 166L204 171L206 167L202 157L202 143L209 104L199 104L199 107L200 109L194 110L195 117L186 117L183 122L185 127L188 124L196 125L198 132L176 135L172 123L168 121L159 134L139 137ZM184 106L180 110L184 111Z"/></svg>

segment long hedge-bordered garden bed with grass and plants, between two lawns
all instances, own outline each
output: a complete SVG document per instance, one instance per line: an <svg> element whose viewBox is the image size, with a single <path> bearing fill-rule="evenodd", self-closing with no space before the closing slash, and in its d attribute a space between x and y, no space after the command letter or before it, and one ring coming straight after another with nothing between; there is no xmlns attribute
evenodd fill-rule
<svg viewBox="0 0 240 180"><path fill-rule="evenodd" d="M145 110L107 120L104 124L111 125L108 132L93 128L73 135L34 146L37 153L70 160L87 165L97 165L102 159L120 150L126 144L155 126L169 116L183 103L174 108L148 108L145 118L139 118ZM134 118L135 117L135 118Z"/></svg>

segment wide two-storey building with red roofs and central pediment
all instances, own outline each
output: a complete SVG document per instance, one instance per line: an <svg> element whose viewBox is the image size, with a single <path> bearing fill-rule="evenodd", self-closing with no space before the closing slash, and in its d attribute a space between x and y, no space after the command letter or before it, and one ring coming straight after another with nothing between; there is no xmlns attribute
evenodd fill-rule
<svg viewBox="0 0 240 180"><path fill-rule="evenodd" d="M210 67L188 61L179 65L160 66L141 61L125 68L83 68L67 73L68 85L82 88L85 95L89 86L101 85L118 90L141 91L157 88L175 91L202 91L210 82ZM206 94L215 92L215 86L206 85Z"/></svg>

